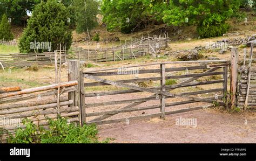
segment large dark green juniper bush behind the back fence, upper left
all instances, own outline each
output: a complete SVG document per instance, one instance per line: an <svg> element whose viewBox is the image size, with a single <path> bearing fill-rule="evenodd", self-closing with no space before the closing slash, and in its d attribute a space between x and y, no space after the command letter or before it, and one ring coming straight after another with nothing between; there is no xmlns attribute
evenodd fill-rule
<svg viewBox="0 0 256 161"><path fill-rule="evenodd" d="M36 5L19 40L19 50L25 53L53 51L59 48L60 43L69 50L72 43L69 17L68 9L55 0Z"/></svg>

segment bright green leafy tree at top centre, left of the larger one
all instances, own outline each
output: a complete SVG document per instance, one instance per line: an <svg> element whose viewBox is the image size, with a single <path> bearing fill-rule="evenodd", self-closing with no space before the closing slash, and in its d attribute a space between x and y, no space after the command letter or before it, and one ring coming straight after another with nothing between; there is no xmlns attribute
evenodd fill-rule
<svg viewBox="0 0 256 161"><path fill-rule="evenodd" d="M146 24L150 4L147 0L103 0L103 22L106 23L108 31L117 29L123 33L131 33Z"/></svg>

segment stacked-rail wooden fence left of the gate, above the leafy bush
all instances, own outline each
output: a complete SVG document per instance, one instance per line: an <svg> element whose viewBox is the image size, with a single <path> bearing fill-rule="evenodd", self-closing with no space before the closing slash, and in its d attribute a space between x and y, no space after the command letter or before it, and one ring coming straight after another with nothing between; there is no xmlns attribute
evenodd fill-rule
<svg viewBox="0 0 256 161"><path fill-rule="evenodd" d="M55 119L58 115L67 117L70 122L80 122L79 107L65 96L72 95L77 90L78 82L70 81L49 86L21 90L15 88L0 89L0 129L3 134L0 142L6 142L9 135L15 134L22 124L23 118L29 118L36 125L48 128L47 118ZM60 97L56 97L60 88ZM8 130L5 131L5 130Z"/></svg>

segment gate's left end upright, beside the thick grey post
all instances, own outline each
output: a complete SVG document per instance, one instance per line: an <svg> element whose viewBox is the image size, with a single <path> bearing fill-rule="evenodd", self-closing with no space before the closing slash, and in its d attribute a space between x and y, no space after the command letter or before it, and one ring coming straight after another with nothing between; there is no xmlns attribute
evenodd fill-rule
<svg viewBox="0 0 256 161"><path fill-rule="evenodd" d="M84 95L84 74L83 69L80 71L80 116L82 125L86 123L85 112L85 95Z"/></svg>

